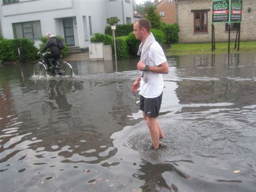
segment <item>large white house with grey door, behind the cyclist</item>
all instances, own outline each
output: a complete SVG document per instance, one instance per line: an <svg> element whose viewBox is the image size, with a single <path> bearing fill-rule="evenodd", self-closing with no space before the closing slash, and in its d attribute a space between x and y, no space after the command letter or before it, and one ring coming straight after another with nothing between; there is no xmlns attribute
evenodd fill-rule
<svg viewBox="0 0 256 192"><path fill-rule="evenodd" d="M63 36L69 46L89 47L90 37L104 34L106 18L134 22L133 0L0 0L0 34L40 43L47 32Z"/></svg>

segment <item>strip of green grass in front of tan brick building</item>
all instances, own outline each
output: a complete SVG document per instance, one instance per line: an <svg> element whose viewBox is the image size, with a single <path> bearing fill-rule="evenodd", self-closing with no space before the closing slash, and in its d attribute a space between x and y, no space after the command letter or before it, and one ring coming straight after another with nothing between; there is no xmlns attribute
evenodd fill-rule
<svg viewBox="0 0 256 192"><path fill-rule="evenodd" d="M256 52L256 41L240 42L240 51L234 49L234 45L234 42L230 43L230 53ZM174 56L228 53L228 42L216 43L215 48L216 49L212 52L212 43L179 43L172 44L170 48L165 49L165 54L166 56Z"/></svg>

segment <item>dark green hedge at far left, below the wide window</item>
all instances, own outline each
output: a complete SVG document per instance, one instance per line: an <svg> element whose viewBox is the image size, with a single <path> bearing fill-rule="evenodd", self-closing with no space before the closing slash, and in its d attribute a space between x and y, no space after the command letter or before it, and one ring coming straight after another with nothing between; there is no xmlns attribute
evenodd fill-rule
<svg viewBox="0 0 256 192"><path fill-rule="evenodd" d="M38 48L34 46L34 41L29 39L2 39L0 40L0 60L2 62L18 60L18 48L23 47L26 60L36 59Z"/></svg>

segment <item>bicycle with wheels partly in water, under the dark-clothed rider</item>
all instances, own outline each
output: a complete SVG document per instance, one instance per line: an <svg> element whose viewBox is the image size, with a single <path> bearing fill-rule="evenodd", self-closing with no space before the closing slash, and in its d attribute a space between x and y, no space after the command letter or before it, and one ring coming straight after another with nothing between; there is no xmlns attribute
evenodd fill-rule
<svg viewBox="0 0 256 192"><path fill-rule="evenodd" d="M40 61L34 66L34 76L47 77L47 72L51 72L53 76L72 77L73 68L67 61L57 61L55 59L49 59L53 67L48 68L46 62L44 61L44 55L46 55L46 53L40 53L40 55Z"/></svg>

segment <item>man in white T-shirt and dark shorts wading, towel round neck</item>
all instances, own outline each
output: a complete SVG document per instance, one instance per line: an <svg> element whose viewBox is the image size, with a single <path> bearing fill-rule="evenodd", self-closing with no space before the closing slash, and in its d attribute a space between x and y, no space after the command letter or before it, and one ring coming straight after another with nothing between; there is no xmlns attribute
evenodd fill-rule
<svg viewBox="0 0 256 192"><path fill-rule="evenodd" d="M144 18L139 19L133 25L133 34L136 39L141 40L138 51L141 60L137 64L141 75L133 83L131 89L137 91L141 83L139 109L143 111L143 118L146 119L153 147L158 149L164 145L159 141L164 137L164 133L157 118L163 96L163 73L168 73L169 68L163 49L150 32L150 28L150 22Z"/></svg>

